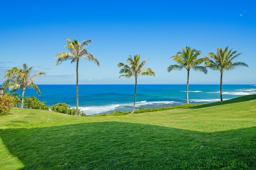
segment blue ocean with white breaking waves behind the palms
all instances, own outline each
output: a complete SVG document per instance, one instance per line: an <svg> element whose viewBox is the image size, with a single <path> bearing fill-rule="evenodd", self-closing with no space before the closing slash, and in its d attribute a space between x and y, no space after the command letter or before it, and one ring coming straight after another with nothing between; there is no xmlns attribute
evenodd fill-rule
<svg viewBox="0 0 256 170"><path fill-rule="evenodd" d="M36 96L47 106L66 103L76 107L76 85L38 85L41 96L27 89L25 97ZM131 111L134 102L134 85L79 85L79 108L87 115L110 113L115 110ZM226 85L222 87L223 100L256 94L256 85ZM21 90L18 91L21 94ZM207 104L220 101L220 85L189 85L190 104ZM186 104L186 84L138 84L136 108L153 108Z"/></svg>

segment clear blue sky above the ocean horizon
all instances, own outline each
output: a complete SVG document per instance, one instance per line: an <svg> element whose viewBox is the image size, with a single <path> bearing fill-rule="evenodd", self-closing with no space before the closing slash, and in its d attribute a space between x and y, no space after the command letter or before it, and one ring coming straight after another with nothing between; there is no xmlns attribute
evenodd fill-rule
<svg viewBox="0 0 256 170"><path fill-rule="evenodd" d="M225 71L224 84L256 84L256 1L254 0L11 0L0 6L0 84L4 72L23 63L32 74L46 76L36 84L76 84L76 64L56 66L54 56L66 40L91 39L87 51L100 67L79 61L79 84L134 84L134 78L118 78L119 62L129 55L149 58L155 77L140 76L138 84L186 84L187 71L167 72L175 64L169 58L182 47L202 51L216 48L242 53L236 61L247 67ZM190 84L219 84L220 72L190 71Z"/></svg>

